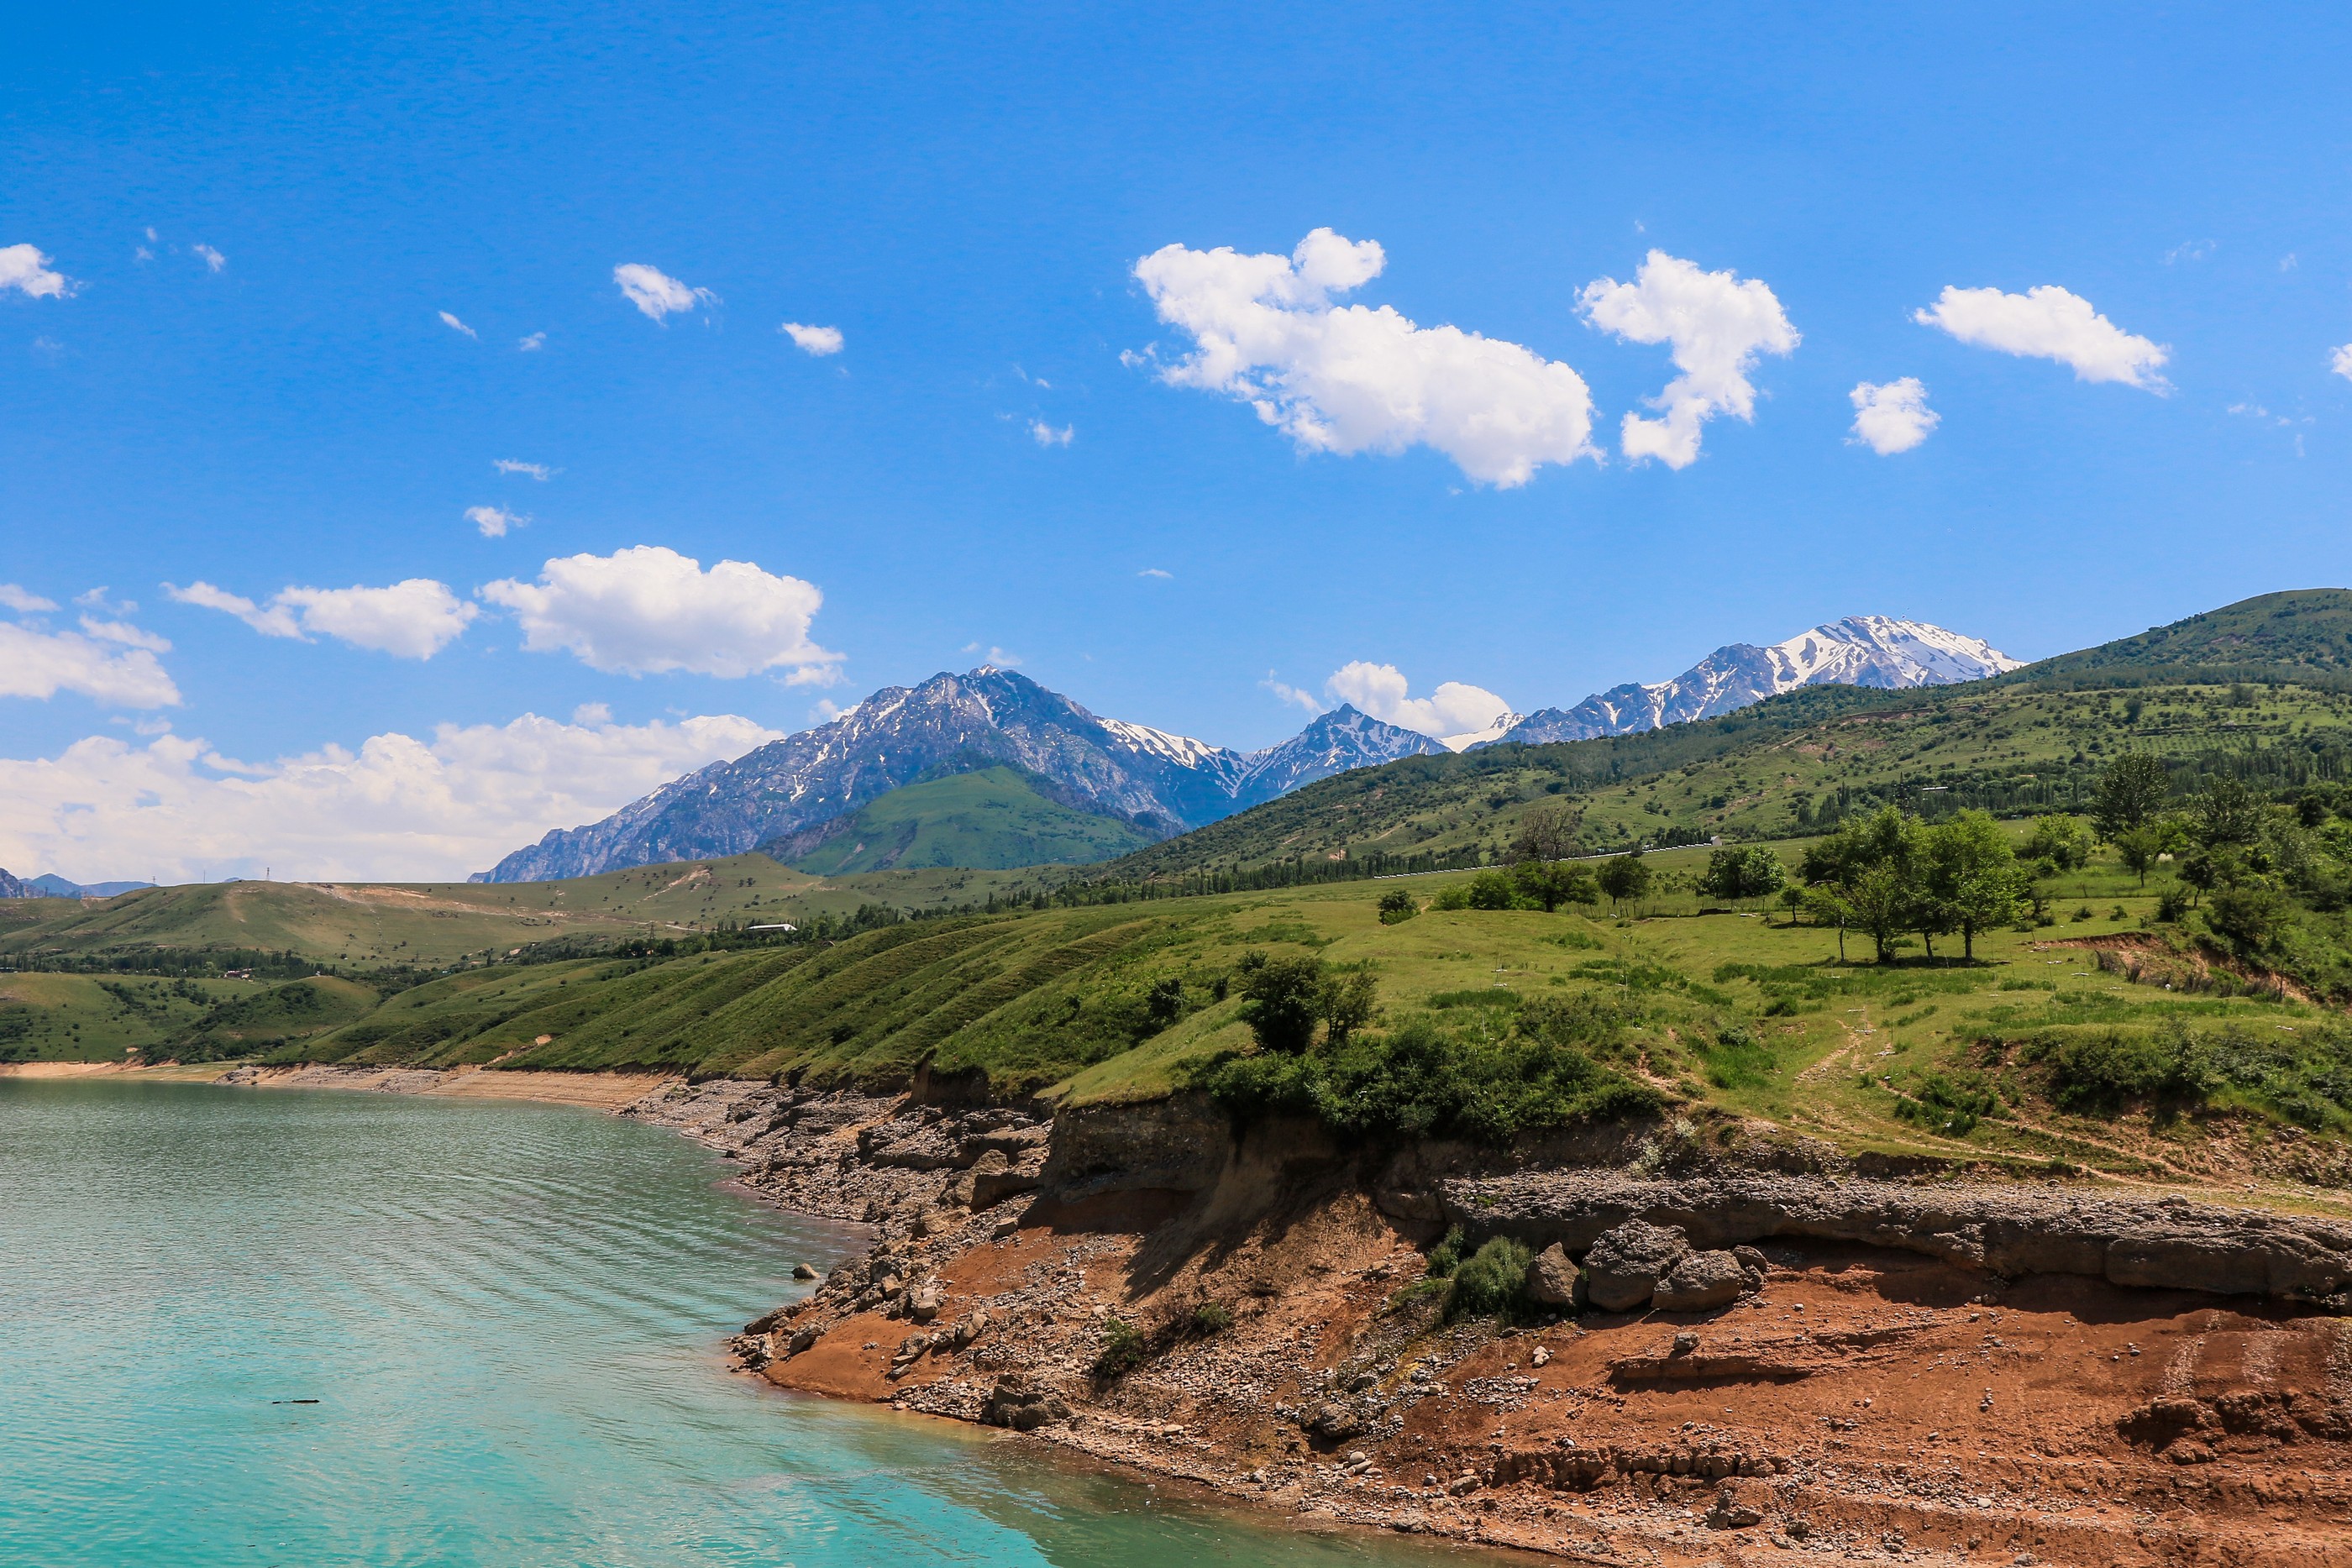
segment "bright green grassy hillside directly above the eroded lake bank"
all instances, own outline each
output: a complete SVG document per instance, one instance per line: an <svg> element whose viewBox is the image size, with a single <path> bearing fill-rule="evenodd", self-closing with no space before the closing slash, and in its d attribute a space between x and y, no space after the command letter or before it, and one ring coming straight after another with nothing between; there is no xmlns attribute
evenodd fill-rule
<svg viewBox="0 0 2352 1568"><path fill-rule="evenodd" d="M1776 849L1795 860L1802 846ZM1557 1001L1599 1006L1623 1023L1599 1051L1609 1070L1726 1138L1771 1124L1856 1152L2138 1175L2345 1157L2352 1044L2331 1009L2237 978L2157 922L2161 879L2140 889L2100 860L2046 884L2051 924L1980 936L1976 964L1879 966L1860 938L1839 959L1835 931L1785 914L1700 914L1689 877L1703 860L1653 856L1670 886L1625 917L1423 907L1381 922L1383 893L1428 905L1465 879L1435 875L941 919L835 947L492 966L278 1058L870 1088L929 1070L997 1095L1134 1100L1256 1048L1249 954L1312 957L1374 978L1376 1030L1428 1020L1454 1051L1510 1039ZM2197 1053L2201 1077L2147 1067L2169 1051Z"/></svg>

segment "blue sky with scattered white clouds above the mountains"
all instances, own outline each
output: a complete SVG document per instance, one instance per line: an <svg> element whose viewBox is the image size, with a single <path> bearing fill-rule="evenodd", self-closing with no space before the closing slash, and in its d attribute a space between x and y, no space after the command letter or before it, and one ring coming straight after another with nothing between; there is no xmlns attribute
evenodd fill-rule
<svg viewBox="0 0 2352 1568"><path fill-rule="evenodd" d="M2340 12L14 26L0 581L54 607L7 616L19 872L454 875L990 649L1249 748L1350 661L1524 710L1844 614L2032 658L2345 581ZM1209 252L1322 228L1378 266L1258 313L1265 423L1185 322L1240 320ZM1138 277L1162 247L1207 282ZM1985 292L1950 331L1945 289ZM1486 343L1430 369L1357 303ZM1630 456L1677 350L1696 458ZM1350 411L1367 374L1418 414ZM1903 378L1938 423L1879 454L1851 397Z"/></svg>

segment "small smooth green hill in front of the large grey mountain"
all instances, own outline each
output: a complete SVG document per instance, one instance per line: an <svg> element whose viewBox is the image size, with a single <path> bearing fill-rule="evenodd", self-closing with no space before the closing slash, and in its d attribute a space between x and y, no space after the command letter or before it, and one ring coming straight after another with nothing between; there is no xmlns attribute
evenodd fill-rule
<svg viewBox="0 0 2352 1568"><path fill-rule="evenodd" d="M1152 835L1134 823L1063 806L1018 769L993 766L891 790L844 820L762 851L818 877L844 877L1082 865L1150 842Z"/></svg>

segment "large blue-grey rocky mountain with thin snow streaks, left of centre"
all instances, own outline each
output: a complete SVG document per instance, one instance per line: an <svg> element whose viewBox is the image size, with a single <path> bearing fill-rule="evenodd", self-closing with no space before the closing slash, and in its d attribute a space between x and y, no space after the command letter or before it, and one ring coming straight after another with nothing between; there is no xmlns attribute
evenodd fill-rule
<svg viewBox="0 0 2352 1568"><path fill-rule="evenodd" d="M1331 773L1435 750L1409 729L1341 708L1282 745L1235 752L1098 719L1025 675L981 665L875 691L830 724L715 762L602 823L555 830L485 879L546 882L736 856L920 778L1000 762L1044 778L1065 804L1174 835Z"/></svg>

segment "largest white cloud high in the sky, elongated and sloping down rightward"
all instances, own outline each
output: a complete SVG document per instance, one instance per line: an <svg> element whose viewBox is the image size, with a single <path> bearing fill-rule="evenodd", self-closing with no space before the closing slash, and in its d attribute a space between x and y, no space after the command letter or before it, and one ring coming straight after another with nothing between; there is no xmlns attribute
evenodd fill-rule
<svg viewBox="0 0 2352 1568"><path fill-rule="evenodd" d="M1136 263L1162 322L1197 348L1160 378L1249 402L1305 451L1435 447L1484 484L1597 456L1592 395L1571 367L1390 306L1334 306L1388 266L1371 240L1317 228L1289 256L1167 244Z"/></svg>

